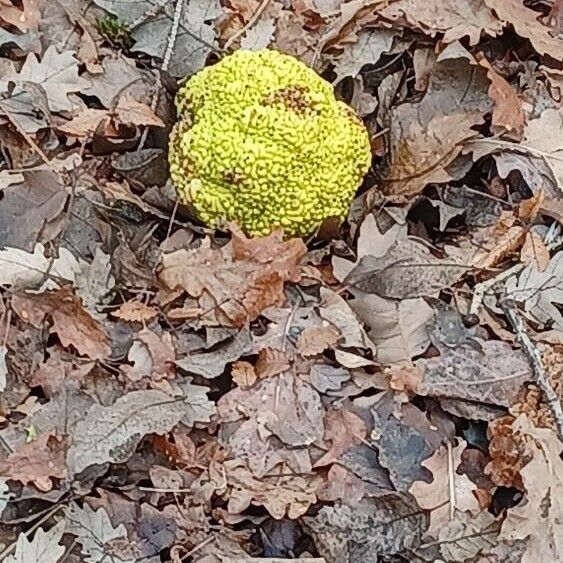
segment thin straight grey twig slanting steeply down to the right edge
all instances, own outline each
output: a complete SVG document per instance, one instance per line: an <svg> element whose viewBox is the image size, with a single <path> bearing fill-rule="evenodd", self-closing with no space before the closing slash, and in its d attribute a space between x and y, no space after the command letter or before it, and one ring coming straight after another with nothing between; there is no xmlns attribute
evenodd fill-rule
<svg viewBox="0 0 563 563"><path fill-rule="evenodd" d="M526 327L524 326L524 322L522 321L522 317L518 314L518 311L516 309L515 302L507 298L504 288L497 292L497 295L499 297L499 305L506 315L506 318L508 319L508 322L512 326L514 332L516 333L516 340L520 344L522 351L528 358L528 362L534 374L534 383L537 384L537 386L542 390L545 396L547 405L551 410L551 413L555 420L555 426L557 427L559 439L563 442L563 409L561 408L561 401L559 400L557 393L553 390L553 387L549 382L549 378L543 366L540 352L528 336Z"/></svg>

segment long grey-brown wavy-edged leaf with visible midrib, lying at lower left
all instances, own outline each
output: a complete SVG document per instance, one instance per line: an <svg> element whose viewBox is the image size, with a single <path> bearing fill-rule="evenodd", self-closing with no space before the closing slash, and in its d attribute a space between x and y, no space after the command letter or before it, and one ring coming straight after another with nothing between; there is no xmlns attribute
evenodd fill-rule
<svg viewBox="0 0 563 563"><path fill-rule="evenodd" d="M133 391L113 405L94 405L72 429L68 450L69 473L75 475L90 465L123 462L146 434L169 432L187 414L185 396L163 391Z"/></svg>

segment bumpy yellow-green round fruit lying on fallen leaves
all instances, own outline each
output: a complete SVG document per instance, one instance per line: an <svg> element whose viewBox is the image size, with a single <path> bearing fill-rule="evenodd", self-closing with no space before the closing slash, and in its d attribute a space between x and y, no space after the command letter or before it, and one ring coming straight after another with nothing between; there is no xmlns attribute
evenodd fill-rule
<svg viewBox="0 0 563 563"><path fill-rule="evenodd" d="M176 96L172 182L209 225L305 236L343 219L371 163L368 133L328 82L289 55L239 50Z"/></svg>

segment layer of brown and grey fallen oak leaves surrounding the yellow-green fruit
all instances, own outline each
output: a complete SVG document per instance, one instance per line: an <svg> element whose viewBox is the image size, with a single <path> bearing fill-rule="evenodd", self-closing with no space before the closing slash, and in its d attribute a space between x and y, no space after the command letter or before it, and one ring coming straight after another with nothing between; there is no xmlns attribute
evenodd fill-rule
<svg viewBox="0 0 563 563"><path fill-rule="evenodd" d="M0 0L0 559L559 561L561 13ZM332 240L170 196L178 79L266 47L372 136Z"/></svg>

